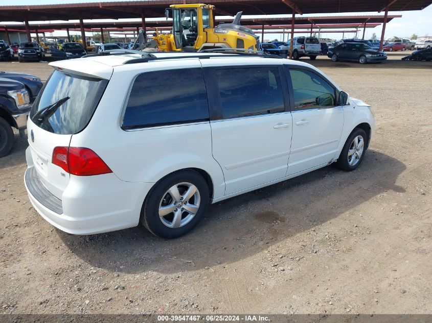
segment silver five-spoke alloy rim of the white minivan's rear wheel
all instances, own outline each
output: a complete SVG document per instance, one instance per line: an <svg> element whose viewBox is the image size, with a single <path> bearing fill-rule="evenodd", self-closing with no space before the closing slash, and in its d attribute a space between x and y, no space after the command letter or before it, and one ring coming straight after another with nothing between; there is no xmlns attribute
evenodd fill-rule
<svg viewBox="0 0 432 323"><path fill-rule="evenodd" d="M201 196L198 188L191 183L171 186L159 204L159 218L168 228L187 225L198 212Z"/></svg>

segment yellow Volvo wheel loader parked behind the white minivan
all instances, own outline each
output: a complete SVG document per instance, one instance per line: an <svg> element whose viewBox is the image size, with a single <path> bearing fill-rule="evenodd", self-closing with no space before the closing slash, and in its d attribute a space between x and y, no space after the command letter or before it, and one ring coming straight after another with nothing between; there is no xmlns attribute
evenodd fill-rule
<svg viewBox="0 0 432 323"><path fill-rule="evenodd" d="M256 51L259 37L252 29L240 25L242 12L237 13L232 23L221 23L215 27L214 6L204 4L171 5L165 17L172 18L170 34L156 29L153 39L145 42L140 30L134 48L158 48L161 52L199 52L212 48L243 48Z"/></svg>

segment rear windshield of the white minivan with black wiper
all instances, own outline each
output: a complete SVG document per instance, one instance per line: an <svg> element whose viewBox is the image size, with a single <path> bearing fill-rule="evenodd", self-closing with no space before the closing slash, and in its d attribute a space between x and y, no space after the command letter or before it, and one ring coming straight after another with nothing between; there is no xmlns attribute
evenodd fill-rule
<svg viewBox="0 0 432 323"><path fill-rule="evenodd" d="M30 118L46 131L61 135L76 134L92 118L107 84L107 80L55 70L40 90ZM69 99L62 100L66 97ZM57 102L62 104L55 105ZM45 109L46 112L42 113ZM37 112L37 117L33 118Z"/></svg>

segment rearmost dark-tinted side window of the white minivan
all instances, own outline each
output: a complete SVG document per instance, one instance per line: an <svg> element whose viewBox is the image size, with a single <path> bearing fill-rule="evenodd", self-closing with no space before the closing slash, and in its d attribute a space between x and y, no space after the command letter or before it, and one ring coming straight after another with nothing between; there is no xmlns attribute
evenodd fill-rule
<svg viewBox="0 0 432 323"><path fill-rule="evenodd" d="M202 69L171 69L142 73L135 79L122 128L145 128L209 119Z"/></svg>

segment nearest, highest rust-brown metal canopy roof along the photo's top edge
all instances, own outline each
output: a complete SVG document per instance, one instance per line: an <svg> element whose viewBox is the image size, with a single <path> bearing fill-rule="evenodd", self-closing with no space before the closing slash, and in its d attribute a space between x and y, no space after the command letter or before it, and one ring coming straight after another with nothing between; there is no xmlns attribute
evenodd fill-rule
<svg viewBox="0 0 432 323"><path fill-rule="evenodd" d="M119 19L160 17L171 4L196 3L196 0L146 0L125 2L100 2L79 4L0 6L0 21L40 21L79 19ZM432 0L210 0L220 15L245 15L381 12L421 10L432 4Z"/></svg>

